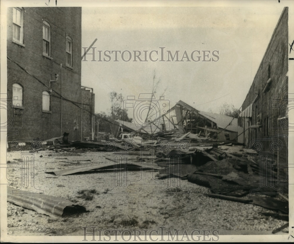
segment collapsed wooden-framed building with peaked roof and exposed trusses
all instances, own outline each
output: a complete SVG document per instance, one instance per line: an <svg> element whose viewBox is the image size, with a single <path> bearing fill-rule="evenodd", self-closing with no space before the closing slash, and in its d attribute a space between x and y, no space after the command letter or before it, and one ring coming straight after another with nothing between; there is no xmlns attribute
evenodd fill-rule
<svg viewBox="0 0 294 244"><path fill-rule="evenodd" d="M183 101L178 101L171 109L143 127L134 123L116 120L121 131L140 133L142 136L158 133L190 132L190 138L211 138L219 141L238 142L238 119L223 114L199 111ZM145 134L145 135L144 135Z"/></svg>

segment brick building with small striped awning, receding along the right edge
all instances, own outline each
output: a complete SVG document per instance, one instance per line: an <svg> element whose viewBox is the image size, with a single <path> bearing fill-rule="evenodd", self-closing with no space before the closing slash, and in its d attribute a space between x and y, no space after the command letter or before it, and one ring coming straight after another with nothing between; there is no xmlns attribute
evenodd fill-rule
<svg viewBox="0 0 294 244"><path fill-rule="evenodd" d="M268 153L271 164L288 164L288 7L275 27L238 123L246 146ZM285 180L279 185L284 193L288 193L287 179L287 169L278 167L278 180Z"/></svg>

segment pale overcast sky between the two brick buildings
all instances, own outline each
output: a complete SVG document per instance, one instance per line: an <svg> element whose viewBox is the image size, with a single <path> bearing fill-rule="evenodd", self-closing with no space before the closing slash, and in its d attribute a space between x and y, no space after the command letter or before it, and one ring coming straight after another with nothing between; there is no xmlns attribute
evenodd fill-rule
<svg viewBox="0 0 294 244"><path fill-rule="evenodd" d="M227 102L239 108L253 82L283 6L243 7L83 7L82 47L89 47L95 38L95 59L98 50L149 52L160 59L159 47L172 54L179 50L191 55L194 50L217 50L217 62L124 62L114 53L109 62L82 62L82 84L93 87L95 111L109 111L109 93L116 91L126 98L151 93L153 74L156 98L164 94L173 106L178 100L199 110L219 112ZM91 53L92 51L90 51ZM206 52L206 54L208 54ZM217 53L215 53L217 54ZM165 53L164 55L167 55ZM200 55L200 56L201 56ZM194 53L199 56L198 53ZM127 60L128 53L124 54ZM167 56L166 56L167 57ZM141 59L144 55L141 55ZM213 57L211 54L206 58ZM107 58L108 59L108 58ZM165 58L167 59L167 58ZM132 117L132 115L130 115Z"/></svg>

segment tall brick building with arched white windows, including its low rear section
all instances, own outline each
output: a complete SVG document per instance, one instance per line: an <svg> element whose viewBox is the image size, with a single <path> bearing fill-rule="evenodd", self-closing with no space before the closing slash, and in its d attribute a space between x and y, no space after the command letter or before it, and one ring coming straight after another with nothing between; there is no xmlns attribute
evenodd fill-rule
<svg viewBox="0 0 294 244"><path fill-rule="evenodd" d="M81 87L81 7L7 9L7 97L8 141L64 132L69 140L91 137L94 94Z"/></svg>

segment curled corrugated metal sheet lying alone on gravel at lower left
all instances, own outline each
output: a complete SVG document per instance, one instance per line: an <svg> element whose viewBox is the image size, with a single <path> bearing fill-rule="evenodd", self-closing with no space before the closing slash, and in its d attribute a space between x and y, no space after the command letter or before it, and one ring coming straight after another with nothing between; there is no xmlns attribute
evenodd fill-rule
<svg viewBox="0 0 294 244"><path fill-rule="evenodd" d="M74 202L40 193L16 190L7 186L7 202L34 210L51 217L62 217L64 214L86 212L86 208Z"/></svg>

